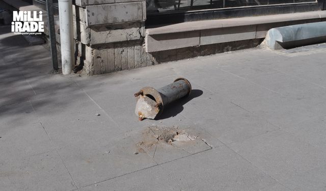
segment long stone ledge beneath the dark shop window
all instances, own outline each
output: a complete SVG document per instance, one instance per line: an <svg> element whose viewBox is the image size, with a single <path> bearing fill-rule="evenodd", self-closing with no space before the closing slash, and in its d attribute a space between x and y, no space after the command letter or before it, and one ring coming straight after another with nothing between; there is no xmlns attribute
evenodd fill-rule
<svg viewBox="0 0 326 191"><path fill-rule="evenodd" d="M156 52L260 39L271 28L325 20L326 11L312 11L177 23L146 29L145 48L147 52Z"/></svg>

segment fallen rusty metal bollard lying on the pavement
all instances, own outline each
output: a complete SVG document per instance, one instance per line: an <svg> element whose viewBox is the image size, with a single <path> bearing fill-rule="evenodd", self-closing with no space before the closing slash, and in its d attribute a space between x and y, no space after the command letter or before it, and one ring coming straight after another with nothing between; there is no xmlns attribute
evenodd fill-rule
<svg viewBox="0 0 326 191"><path fill-rule="evenodd" d="M135 93L137 104L135 114L139 120L155 119L158 117L165 106L172 101L188 96L192 91L192 85L185 78L177 78L172 84L155 90L152 87L142 88Z"/></svg>

